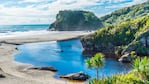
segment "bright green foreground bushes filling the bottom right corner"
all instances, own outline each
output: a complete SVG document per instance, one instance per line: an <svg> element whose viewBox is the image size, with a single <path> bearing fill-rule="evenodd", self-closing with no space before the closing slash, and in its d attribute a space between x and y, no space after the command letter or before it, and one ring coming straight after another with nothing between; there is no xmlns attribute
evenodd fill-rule
<svg viewBox="0 0 149 84"><path fill-rule="evenodd" d="M127 74L115 74L106 78L91 79L88 84L149 84L149 59L136 58L134 69Z"/></svg>

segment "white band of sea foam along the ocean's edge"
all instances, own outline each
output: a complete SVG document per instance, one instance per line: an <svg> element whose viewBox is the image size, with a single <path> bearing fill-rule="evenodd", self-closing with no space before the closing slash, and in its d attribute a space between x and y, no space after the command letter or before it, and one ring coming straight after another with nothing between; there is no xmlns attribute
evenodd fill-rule
<svg viewBox="0 0 149 84"><path fill-rule="evenodd" d="M47 31L47 30L39 31L38 30L38 31L25 31L25 32L7 32L7 33L0 33L0 38L44 35L44 34L53 34L53 33L58 33L58 31Z"/></svg>

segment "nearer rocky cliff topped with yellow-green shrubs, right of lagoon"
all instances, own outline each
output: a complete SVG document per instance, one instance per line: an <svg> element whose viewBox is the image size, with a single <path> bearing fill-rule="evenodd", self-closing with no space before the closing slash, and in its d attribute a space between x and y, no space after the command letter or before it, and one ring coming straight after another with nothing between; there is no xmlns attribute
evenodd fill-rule
<svg viewBox="0 0 149 84"><path fill-rule="evenodd" d="M135 51L149 55L149 15L127 20L115 26L99 29L81 39L84 54L116 53L120 56Z"/></svg>

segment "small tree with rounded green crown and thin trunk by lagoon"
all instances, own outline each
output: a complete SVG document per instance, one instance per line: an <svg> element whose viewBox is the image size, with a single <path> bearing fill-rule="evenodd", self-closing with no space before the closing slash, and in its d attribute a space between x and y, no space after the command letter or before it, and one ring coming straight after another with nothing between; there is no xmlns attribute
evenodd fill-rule
<svg viewBox="0 0 149 84"><path fill-rule="evenodd" d="M92 58L85 60L85 63L88 68L95 68L96 69L96 78L98 79L98 70L100 67L104 65L104 55L102 53L95 54Z"/></svg>

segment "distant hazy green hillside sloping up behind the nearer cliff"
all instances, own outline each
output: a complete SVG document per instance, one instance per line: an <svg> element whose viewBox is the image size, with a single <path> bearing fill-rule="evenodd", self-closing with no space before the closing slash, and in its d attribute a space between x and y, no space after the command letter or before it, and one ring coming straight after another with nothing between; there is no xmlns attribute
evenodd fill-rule
<svg viewBox="0 0 149 84"><path fill-rule="evenodd" d="M101 17L100 20L104 26L109 26L121 23L125 20L145 16L147 13L149 13L149 1L114 11L111 14Z"/></svg>

